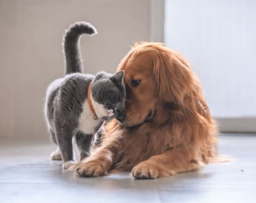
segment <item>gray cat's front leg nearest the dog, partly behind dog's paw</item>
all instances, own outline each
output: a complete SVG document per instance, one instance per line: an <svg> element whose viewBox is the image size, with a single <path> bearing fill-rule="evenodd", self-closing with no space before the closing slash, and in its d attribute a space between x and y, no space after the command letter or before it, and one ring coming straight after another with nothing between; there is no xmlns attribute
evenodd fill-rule
<svg viewBox="0 0 256 203"><path fill-rule="evenodd" d="M90 157L94 143L94 135L78 131L76 134L76 143L80 151L80 160Z"/></svg>

